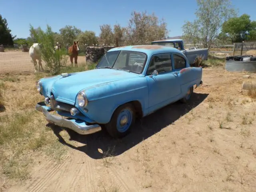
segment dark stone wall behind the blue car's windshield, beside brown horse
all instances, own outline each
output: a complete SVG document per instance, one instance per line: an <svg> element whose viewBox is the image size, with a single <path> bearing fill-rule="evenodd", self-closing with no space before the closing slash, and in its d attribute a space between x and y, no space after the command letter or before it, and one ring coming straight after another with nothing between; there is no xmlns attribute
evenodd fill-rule
<svg viewBox="0 0 256 192"><path fill-rule="evenodd" d="M86 62L95 63L106 53L108 50L114 48L114 46L95 47L89 46L85 49Z"/></svg>

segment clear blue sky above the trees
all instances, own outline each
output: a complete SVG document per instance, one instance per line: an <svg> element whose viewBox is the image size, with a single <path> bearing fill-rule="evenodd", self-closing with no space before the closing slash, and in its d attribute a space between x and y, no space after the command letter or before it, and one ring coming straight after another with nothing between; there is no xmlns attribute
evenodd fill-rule
<svg viewBox="0 0 256 192"><path fill-rule="evenodd" d="M249 14L256 20L256 0L231 0L241 14ZM133 10L144 11L164 18L170 30L169 36L182 35L186 20L195 19L196 0L0 0L0 14L7 19L13 35L29 36L29 24L42 29L49 24L54 32L65 25L81 30L92 30L98 36L100 25L119 23L126 26Z"/></svg>

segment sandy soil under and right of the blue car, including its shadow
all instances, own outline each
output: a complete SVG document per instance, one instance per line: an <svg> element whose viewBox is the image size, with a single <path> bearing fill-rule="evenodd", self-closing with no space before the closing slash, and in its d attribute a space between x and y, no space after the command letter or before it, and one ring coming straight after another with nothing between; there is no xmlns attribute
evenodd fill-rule
<svg viewBox="0 0 256 192"><path fill-rule="evenodd" d="M143 118L120 140L48 125L70 148L65 160L38 156L30 179L6 191L256 191L256 101L240 92L244 74L204 69L190 102Z"/></svg>

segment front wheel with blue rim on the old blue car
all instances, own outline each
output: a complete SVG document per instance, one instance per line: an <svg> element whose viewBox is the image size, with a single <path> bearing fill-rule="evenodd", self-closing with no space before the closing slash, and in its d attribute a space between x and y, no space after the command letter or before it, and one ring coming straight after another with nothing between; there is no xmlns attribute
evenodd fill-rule
<svg viewBox="0 0 256 192"><path fill-rule="evenodd" d="M114 138L122 138L128 134L135 122L135 110L132 104L119 106L108 124L106 130Z"/></svg>

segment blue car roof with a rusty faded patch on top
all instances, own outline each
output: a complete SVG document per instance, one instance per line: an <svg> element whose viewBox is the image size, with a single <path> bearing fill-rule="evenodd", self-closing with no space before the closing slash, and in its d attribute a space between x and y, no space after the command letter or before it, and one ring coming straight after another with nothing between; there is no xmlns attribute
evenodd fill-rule
<svg viewBox="0 0 256 192"><path fill-rule="evenodd" d="M122 46L122 47L116 47L108 50L108 52L111 51L118 51L118 50L126 50L126 51L137 51L137 52L143 52L147 55L152 55L156 53L162 53L162 52L175 52L175 53L181 53L180 50L173 47L168 46L162 46L162 45L133 45L133 46Z"/></svg>

